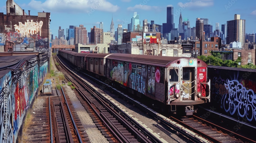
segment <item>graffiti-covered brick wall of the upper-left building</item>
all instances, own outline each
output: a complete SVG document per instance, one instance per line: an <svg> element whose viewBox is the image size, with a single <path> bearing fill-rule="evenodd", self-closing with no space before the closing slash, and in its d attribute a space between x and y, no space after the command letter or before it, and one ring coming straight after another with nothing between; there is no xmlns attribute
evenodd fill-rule
<svg viewBox="0 0 256 143"><path fill-rule="evenodd" d="M27 45L34 51L48 51L50 13L39 16L4 15L0 13L0 45L6 41Z"/></svg>

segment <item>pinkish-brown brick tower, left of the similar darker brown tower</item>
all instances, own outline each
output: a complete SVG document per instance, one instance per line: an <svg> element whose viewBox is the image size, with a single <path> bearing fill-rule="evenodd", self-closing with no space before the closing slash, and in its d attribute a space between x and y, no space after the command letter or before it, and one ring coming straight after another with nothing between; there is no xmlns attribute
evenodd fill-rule
<svg viewBox="0 0 256 143"><path fill-rule="evenodd" d="M75 42L74 44L87 44L87 30L83 25L79 25L79 27L75 27L74 30Z"/></svg>

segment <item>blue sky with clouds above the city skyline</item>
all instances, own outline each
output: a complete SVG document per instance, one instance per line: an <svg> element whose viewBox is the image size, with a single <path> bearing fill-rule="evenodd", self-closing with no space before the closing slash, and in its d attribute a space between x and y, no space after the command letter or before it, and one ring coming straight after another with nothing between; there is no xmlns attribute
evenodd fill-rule
<svg viewBox="0 0 256 143"><path fill-rule="evenodd" d="M6 14L6 1L0 3L0 11ZM5 2L4 2L5 1ZM69 28L69 25L86 27L90 32L93 26L99 27L99 23L104 23L104 32L110 30L111 19L115 29L118 24L127 28L131 22L133 13L140 15L140 21L147 19L155 21L155 24L166 22L166 7L174 7L174 23L178 28L180 11L183 21L189 19L190 27L195 26L195 19L208 18L209 24L227 23L234 19L234 14L240 14L241 19L246 20L246 33L256 33L256 7L255 0L14 0L25 12L37 16L37 12L50 12L50 29L54 36L58 36L58 29Z"/></svg>

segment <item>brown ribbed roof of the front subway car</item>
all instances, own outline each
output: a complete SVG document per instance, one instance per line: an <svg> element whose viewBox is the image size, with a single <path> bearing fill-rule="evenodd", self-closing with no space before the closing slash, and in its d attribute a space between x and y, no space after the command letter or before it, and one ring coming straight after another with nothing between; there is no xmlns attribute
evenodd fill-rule
<svg viewBox="0 0 256 143"><path fill-rule="evenodd" d="M107 58L114 60L125 60L127 62L135 62L141 64L151 64L155 66L166 67L169 63L185 58L185 57L170 57L170 56L153 56L153 55L135 55L135 54L120 54L114 53Z"/></svg>

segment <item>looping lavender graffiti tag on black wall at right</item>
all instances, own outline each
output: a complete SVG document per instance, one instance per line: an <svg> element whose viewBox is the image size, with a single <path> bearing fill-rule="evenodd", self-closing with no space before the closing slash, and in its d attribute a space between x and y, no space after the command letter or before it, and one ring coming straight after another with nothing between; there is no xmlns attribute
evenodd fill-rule
<svg viewBox="0 0 256 143"><path fill-rule="evenodd" d="M238 80L227 80L225 87L229 94L223 96L222 103L226 112L231 115L237 111L240 117L248 121L256 119L256 95L252 89L246 89Z"/></svg>

